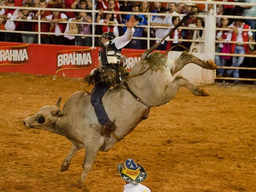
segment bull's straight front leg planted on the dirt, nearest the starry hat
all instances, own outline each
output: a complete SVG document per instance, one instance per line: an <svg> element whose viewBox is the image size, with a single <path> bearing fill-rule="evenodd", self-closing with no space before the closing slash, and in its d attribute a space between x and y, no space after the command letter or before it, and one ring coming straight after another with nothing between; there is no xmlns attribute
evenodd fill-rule
<svg viewBox="0 0 256 192"><path fill-rule="evenodd" d="M96 137L93 137L93 140L85 144L85 158L83 161L83 172L79 180L74 184L78 188L81 188L81 186L83 185L86 176L88 175L90 169L92 168L92 164L94 163L97 152L100 150L100 147L103 145L105 138L100 137L99 135L97 139L98 140L96 141Z"/></svg>

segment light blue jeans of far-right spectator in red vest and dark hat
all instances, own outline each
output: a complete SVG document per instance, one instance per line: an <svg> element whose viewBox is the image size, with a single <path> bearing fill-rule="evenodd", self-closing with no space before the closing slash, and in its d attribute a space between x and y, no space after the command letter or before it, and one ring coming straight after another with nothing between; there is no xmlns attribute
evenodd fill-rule
<svg viewBox="0 0 256 192"><path fill-rule="evenodd" d="M244 46L235 46L236 54L245 54ZM244 57L232 57L232 65L231 66L240 66L244 61ZM234 78L239 78L239 69L228 69L227 73L231 75L233 73ZM237 80L235 80L237 81Z"/></svg>

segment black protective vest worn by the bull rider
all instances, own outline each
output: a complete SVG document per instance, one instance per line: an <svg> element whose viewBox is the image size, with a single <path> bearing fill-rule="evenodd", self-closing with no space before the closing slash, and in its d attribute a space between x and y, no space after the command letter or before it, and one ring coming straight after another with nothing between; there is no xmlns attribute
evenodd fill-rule
<svg viewBox="0 0 256 192"><path fill-rule="evenodd" d="M105 47L101 47L99 50L102 65L108 64L120 64L121 49L117 49L115 43L109 44Z"/></svg>

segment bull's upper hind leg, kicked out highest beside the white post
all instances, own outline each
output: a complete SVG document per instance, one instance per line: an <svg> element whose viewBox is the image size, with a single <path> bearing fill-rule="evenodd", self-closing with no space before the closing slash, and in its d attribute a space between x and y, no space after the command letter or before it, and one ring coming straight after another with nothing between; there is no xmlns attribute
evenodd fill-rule
<svg viewBox="0 0 256 192"><path fill-rule="evenodd" d="M174 60L175 62L175 69L172 71L172 75L180 71L186 64L194 63L197 64L204 69L217 69L217 65L211 60L201 60L196 56L192 55L191 53L184 51L180 57Z"/></svg>

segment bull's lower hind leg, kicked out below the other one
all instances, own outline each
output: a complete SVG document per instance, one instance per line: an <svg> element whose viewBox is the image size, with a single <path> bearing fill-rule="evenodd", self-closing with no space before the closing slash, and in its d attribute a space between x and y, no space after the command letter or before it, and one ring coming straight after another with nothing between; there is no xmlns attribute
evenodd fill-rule
<svg viewBox="0 0 256 192"><path fill-rule="evenodd" d="M181 75L177 75L176 76L176 78L172 82L172 87L176 88L176 91L180 87L185 87L188 90L190 90L193 95L203 96L203 97L209 96L209 94L204 89L199 88L199 87L197 87L195 85L192 85L186 78L183 78L183 76L181 76Z"/></svg>

